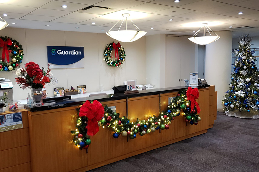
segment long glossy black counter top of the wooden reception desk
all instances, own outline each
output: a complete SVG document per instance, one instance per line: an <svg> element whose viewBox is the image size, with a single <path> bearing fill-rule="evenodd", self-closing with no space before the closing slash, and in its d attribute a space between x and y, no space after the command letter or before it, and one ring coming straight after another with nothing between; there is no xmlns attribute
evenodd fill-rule
<svg viewBox="0 0 259 172"><path fill-rule="evenodd" d="M207 85L207 87L210 87L210 85ZM198 88L204 88L204 86L200 86ZM82 98L76 98L76 99L58 102L58 103L56 102L44 103L42 106L38 106L38 107L32 107L30 105L24 105L24 107L32 112L36 112L36 111L42 111L42 110L51 110L51 109L57 109L62 107L82 105L83 103L85 103L86 100L98 100L100 102L105 102L105 101L121 100L126 98L142 97L142 96L148 96L148 95L157 95L159 93L161 94L170 93L174 91L179 91L181 89L187 89L187 87L179 86L179 87L142 90L142 91L139 91L139 93L132 93L132 94L119 93L119 94L110 94L110 95L100 95L100 96L94 96L94 97L82 97Z"/></svg>

